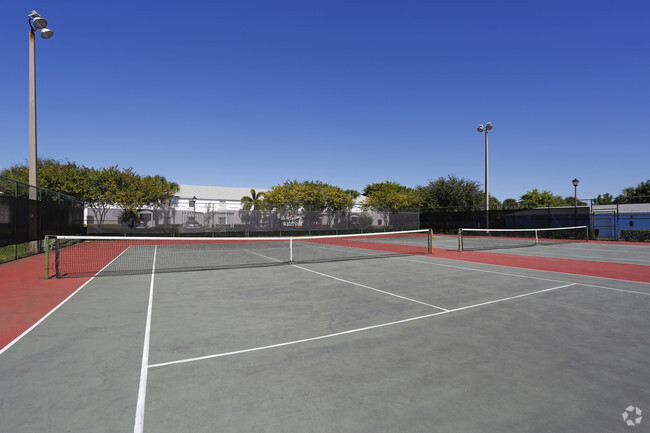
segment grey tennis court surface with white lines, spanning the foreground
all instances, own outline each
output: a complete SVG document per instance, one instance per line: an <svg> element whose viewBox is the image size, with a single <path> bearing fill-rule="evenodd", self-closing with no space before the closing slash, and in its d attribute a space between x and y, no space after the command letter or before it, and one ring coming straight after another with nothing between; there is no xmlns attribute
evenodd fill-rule
<svg viewBox="0 0 650 433"><path fill-rule="evenodd" d="M417 242L185 272L140 250L147 273L90 279L0 352L0 430L648 431L650 246L502 256L635 266L631 281Z"/></svg>

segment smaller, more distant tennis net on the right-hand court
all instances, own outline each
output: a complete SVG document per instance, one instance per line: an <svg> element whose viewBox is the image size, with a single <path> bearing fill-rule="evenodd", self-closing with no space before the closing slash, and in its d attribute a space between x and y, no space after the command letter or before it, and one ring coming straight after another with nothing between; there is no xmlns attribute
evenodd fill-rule
<svg viewBox="0 0 650 433"><path fill-rule="evenodd" d="M458 250L491 250L587 242L587 226L546 229L459 229Z"/></svg>

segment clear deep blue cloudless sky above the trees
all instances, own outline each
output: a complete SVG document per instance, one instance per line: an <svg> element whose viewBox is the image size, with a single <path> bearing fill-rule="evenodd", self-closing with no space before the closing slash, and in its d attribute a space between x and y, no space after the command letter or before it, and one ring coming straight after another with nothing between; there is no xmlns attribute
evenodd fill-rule
<svg viewBox="0 0 650 433"><path fill-rule="evenodd" d="M5 2L0 168L40 157L179 184L454 174L490 193L617 195L650 178L650 2ZM95 22L96 21L96 22Z"/></svg>

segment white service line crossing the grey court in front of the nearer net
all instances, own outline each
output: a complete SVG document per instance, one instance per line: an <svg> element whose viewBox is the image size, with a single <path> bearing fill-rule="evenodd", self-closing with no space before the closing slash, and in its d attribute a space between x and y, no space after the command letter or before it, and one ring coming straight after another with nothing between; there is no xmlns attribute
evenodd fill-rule
<svg viewBox="0 0 650 433"><path fill-rule="evenodd" d="M399 324L402 324L402 323L408 323L408 322L413 322L413 321L416 321L416 320L427 319L429 317L441 316L443 314L455 313L457 311L469 310L471 308L477 308L477 307L482 307L482 306L485 306L485 305L496 304L496 303L499 303L499 302L510 301L510 300L513 300L513 299L524 298L526 296L537 295L537 294L544 293L544 292L550 292L550 291L553 291L553 290L559 290L559 289L563 289L563 288L566 288L566 287L575 286L576 284L577 283L565 284L565 285L562 285L562 286L537 290L535 292L524 293L524 294L516 295L516 296L509 296L507 298L495 299L493 301L481 302L480 304L467 305L465 307L454 308L453 310L437 311L435 313L426 314L424 316L411 317L409 319L397 320L397 321L394 321L394 322L382 323L382 324L379 324L379 325L372 325L372 326L366 326L366 327L363 327L363 328L350 329L348 331L336 332L336 333L333 333L333 334L325 334L325 335L320 335L318 337L303 338L301 340L287 341L285 343L278 343L278 344L271 344L271 345L268 345L268 346L253 347L253 348L250 348L250 349L236 350L236 351L233 351L233 352L225 352L225 353L217 353L217 354L213 354L213 355L199 356L199 357L196 357L196 358L187 358L187 359L179 359L177 361L161 362L159 364L152 364L152 365L149 366L149 368L160 368L160 367L167 367L167 366L170 366L170 365L187 364L187 363L190 363L190 362L203 361L203 360L206 360L206 359L223 358L225 356L240 355L240 354L243 354L243 353L257 352L257 351L261 351L261 350L274 349L274 348L277 348L277 347L292 346L292 345L301 344L301 343L308 343L308 342L311 342L311 341L324 340L326 338L339 337L341 335L354 334L354 333L357 333L357 332L368 331L368 330L371 330L371 329L385 328L387 326L399 325Z"/></svg>

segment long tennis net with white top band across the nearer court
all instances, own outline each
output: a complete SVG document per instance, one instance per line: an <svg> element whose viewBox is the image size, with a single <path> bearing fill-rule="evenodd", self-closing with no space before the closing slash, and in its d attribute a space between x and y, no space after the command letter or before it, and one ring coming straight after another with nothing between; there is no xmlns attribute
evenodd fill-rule
<svg viewBox="0 0 650 433"><path fill-rule="evenodd" d="M431 239L429 230L408 230L251 238L52 236L45 243L51 246L46 254L47 273L61 278L427 254Z"/></svg>

